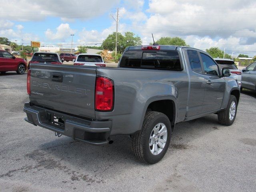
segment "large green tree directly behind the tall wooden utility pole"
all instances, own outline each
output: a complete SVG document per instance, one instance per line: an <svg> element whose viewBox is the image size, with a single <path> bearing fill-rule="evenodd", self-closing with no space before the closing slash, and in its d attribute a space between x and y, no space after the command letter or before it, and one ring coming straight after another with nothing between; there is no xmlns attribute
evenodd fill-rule
<svg viewBox="0 0 256 192"><path fill-rule="evenodd" d="M121 33L117 34L117 52L122 53L126 47L141 45L142 40L139 36L135 36L133 32L125 32L124 36ZM114 51L116 48L116 32L108 35L108 37L102 42L102 48L110 51Z"/></svg>

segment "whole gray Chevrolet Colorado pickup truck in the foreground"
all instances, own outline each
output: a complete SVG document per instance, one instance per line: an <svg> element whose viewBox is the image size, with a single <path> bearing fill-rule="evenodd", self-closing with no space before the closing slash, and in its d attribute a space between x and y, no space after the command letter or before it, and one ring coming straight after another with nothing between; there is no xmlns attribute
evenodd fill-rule
<svg viewBox="0 0 256 192"><path fill-rule="evenodd" d="M162 159L178 122L214 113L231 125L240 97L230 70L206 52L162 45L126 48L118 68L31 64L27 89L27 122L96 145L128 134L149 164Z"/></svg>

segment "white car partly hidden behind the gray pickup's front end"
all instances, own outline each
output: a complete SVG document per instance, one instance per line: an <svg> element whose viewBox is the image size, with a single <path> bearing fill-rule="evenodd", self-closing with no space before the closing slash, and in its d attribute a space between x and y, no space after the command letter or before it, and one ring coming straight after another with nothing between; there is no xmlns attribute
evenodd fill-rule
<svg viewBox="0 0 256 192"><path fill-rule="evenodd" d="M241 81L242 81L242 72L236 67L236 64L231 59L221 59L221 58L215 58L214 59L218 66L220 67L220 71L222 71L222 68L229 68L231 75L234 76L239 84L239 88L241 87Z"/></svg>

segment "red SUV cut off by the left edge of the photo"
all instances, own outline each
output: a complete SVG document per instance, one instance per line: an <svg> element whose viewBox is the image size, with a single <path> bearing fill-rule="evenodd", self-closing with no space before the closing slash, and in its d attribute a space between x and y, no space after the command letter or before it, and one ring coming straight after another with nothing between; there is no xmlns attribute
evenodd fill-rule
<svg viewBox="0 0 256 192"><path fill-rule="evenodd" d="M16 58L7 51L0 50L0 72L2 74L7 71L16 71L18 74L24 74L26 69L26 60L22 58Z"/></svg>

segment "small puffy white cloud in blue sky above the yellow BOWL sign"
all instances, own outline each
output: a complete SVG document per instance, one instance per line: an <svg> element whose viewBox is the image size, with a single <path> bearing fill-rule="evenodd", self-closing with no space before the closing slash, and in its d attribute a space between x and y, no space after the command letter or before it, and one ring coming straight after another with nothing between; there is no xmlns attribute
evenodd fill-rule
<svg viewBox="0 0 256 192"><path fill-rule="evenodd" d="M56 33L52 32L52 30L47 29L45 32L46 38L50 40L65 40L66 38L70 37L71 34L74 34L76 31L72 30L68 23L60 24L56 28Z"/></svg>

